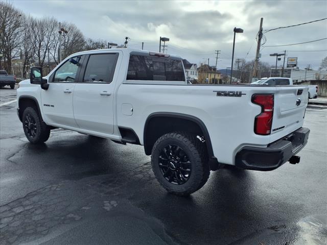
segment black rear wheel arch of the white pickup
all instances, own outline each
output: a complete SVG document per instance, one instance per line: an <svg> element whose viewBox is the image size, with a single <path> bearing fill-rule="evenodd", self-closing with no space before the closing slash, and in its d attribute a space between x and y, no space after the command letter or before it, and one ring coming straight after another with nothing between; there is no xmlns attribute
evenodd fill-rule
<svg viewBox="0 0 327 245"><path fill-rule="evenodd" d="M160 136L174 131L186 131L202 135L205 139L211 169L217 170L219 168L220 164L214 156L211 139L204 122L198 117L188 114L174 112L155 112L150 114L145 122L143 134L146 155L151 155L153 145Z"/></svg>

